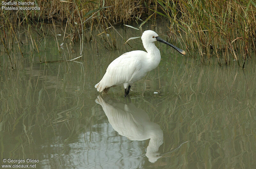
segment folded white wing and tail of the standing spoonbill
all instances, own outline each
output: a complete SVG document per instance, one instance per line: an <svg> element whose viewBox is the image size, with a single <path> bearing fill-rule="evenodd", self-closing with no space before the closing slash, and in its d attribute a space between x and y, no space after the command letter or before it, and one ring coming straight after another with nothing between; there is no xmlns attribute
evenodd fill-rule
<svg viewBox="0 0 256 169"><path fill-rule="evenodd" d="M105 75L95 87L98 91L102 91L104 88L131 81L134 72L140 70L142 65L141 57L145 54L146 52L144 51L132 51L122 54L109 64Z"/></svg>

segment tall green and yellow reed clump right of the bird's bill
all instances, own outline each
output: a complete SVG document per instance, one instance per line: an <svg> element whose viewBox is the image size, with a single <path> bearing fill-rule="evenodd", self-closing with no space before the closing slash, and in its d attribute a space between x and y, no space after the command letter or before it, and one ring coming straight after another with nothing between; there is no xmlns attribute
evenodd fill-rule
<svg viewBox="0 0 256 169"><path fill-rule="evenodd" d="M178 33L187 53L194 57L199 54L203 63L205 58L216 56L219 65L236 60L244 68L245 59L255 52L253 1L157 0L157 3L164 13L156 12L170 20L171 39L176 40L174 35Z"/></svg>

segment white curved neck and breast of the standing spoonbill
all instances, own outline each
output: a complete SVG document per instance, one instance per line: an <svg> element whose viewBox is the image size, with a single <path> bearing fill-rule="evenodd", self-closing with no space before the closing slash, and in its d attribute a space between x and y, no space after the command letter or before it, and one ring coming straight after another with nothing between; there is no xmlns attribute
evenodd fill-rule
<svg viewBox="0 0 256 169"><path fill-rule="evenodd" d="M161 60L160 51L156 47L155 43L143 43L144 48L147 51L147 67L150 69L148 71L151 71L155 69Z"/></svg>

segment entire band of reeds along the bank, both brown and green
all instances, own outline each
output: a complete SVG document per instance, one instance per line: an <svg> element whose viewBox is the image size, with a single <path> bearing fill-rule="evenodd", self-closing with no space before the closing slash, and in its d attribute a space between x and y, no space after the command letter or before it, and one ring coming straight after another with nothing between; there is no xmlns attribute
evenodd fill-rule
<svg viewBox="0 0 256 169"><path fill-rule="evenodd" d="M169 20L165 24L169 27L168 40L185 49L189 56L200 57L203 64L217 57L220 66L236 60L237 65L244 68L245 60L250 59L256 49L256 6L251 0L54 0L47 3L39 0L35 5L41 10L0 11L1 50L7 53L13 69L18 59L12 54L13 44L18 45L23 57L20 46L24 40L20 36L24 32L28 36L26 41L29 40L38 53L39 61L46 62L39 46L46 48L42 39L49 35L56 39L60 58L61 47L73 52L72 45L76 43L80 43L81 56L84 43L91 41L98 44L97 50L98 47L117 49L117 39L110 33L120 35L115 25L136 25L135 29L139 28L141 33L142 25L150 22L151 29L155 30L156 21L163 18ZM62 42L57 35L63 36ZM127 40L121 35L118 38Z"/></svg>

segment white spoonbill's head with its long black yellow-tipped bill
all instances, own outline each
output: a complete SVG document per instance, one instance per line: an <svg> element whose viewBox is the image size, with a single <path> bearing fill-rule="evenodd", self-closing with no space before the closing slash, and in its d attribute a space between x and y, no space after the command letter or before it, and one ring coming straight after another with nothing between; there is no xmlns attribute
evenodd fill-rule
<svg viewBox="0 0 256 169"><path fill-rule="evenodd" d="M158 42L162 42L166 45L172 46L174 49L176 49L178 52L180 52L183 55L186 54L185 51L170 44L169 42L166 42L164 39L160 38L156 32L151 31L151 30L144 31L141 35L141 40L142 40L144 47L146 47L147 44L149 44L149 43L154 43L155 41L158 41Z"/></svg>

